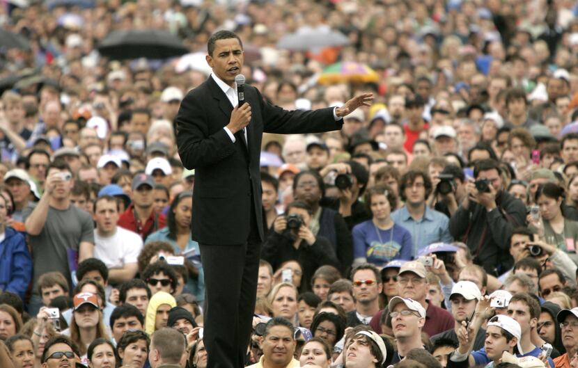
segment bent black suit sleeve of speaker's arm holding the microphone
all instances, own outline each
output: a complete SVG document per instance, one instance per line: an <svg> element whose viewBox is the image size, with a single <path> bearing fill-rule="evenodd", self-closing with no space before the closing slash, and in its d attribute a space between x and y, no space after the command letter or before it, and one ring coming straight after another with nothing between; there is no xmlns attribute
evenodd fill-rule
<svg viewBox="0 0 578 368"><path fill-rule="evenodd" d="M197 95L189 93L182 100L176 117L178 152L188 169L213 165L235 152L225 129L210 134L207 123L210 117Z"/></svg>

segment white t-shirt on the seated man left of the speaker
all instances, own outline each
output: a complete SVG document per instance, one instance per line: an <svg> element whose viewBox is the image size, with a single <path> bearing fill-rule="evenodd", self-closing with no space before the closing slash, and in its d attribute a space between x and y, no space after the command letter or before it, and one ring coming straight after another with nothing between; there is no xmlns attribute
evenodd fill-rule
<svg viewBox="0 0 578 368"><path fill-rule="evenodd" d="M94 230L94 257L100 259L109 269L120 269L128 263L136 263L143 239L136 232L117 226L112 237L101 237Z"/></svg>

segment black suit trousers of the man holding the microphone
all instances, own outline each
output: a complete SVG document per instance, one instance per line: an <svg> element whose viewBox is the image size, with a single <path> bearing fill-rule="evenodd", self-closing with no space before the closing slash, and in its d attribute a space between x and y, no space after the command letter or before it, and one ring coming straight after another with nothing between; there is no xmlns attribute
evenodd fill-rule
<svg viewBox="0 0 578 368"><path fill-rule="evenodd" d="M251 338L257 294L260 237L251 200L251 231L235 246L201 246L205 270L203 341L207 368L242 368Z"/></svg>

